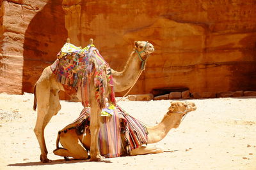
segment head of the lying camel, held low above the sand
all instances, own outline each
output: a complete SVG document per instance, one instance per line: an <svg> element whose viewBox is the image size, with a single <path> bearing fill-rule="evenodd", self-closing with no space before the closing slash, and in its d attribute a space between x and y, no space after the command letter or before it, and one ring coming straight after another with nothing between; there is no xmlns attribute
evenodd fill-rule
<svg viewBox="0 0 256 170"><path fill-rule="evenodd" d="M167 115L171 115L177 118L177 123L174 128L179 127L180 122L182 121L182 117L184 117L188 112L195 111L196 105L193 102L171 102L171 106L169 107L169 111Z"/></svg>

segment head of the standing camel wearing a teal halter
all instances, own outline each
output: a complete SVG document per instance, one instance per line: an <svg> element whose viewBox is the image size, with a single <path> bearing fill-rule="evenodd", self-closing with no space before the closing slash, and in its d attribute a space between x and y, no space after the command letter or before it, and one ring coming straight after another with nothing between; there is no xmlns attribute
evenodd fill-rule
<svg viewBox="0 0 256 170"><path fill-rule="evenodd" d="M134 41L134 50L143 57L154 52L154 46L148 41Z"/></svg>

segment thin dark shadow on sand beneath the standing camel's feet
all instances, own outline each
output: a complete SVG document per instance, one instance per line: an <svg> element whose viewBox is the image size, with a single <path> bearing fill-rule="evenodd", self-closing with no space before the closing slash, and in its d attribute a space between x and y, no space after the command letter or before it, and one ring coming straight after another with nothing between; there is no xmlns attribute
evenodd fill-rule
<svg viewBox="0 0 256 170"><path fill-rule="evenodd" d="M49 163L42 163L42 162L26 162L26 163L16 163L16 164L8 164L7 166L45 166L45 165L56 165L56 164L75 164L75 163L81 163L81 162L90 162L89 159L86 160L77 160L77 159L70 159L70 160L64 160L64 159L57 159L52 160L52 162ZM110 160L101 160L99 163L113 163Z"/></svg>

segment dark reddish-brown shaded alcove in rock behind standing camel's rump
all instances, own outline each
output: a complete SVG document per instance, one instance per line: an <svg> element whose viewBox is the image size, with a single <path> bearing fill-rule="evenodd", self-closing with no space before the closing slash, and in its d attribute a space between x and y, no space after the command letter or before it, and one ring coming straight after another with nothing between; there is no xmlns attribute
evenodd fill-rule
<svg viewBox="0 0 256 170"><path fill-rule="evenodd" d="M56 54L67 39L62 0L49 0L28 25L24 39L22 93L33 92L33 86L45 67L56 60Z"/></svg>

